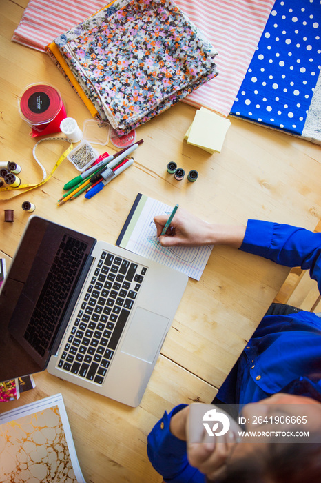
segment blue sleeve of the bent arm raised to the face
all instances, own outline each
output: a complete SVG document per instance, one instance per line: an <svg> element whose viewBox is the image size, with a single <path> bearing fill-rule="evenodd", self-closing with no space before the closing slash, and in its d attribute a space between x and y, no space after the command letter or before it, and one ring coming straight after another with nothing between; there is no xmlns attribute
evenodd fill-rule
<svg viewBox="0 0 321 483"><path fill-rule="evenodd" d="M179 440L169 430L172 415L185 406L186 404L180 404L169 414L165 411L147 437L147 455L165 482L205 483L205 476L187 460L186 442Z"/></svg>

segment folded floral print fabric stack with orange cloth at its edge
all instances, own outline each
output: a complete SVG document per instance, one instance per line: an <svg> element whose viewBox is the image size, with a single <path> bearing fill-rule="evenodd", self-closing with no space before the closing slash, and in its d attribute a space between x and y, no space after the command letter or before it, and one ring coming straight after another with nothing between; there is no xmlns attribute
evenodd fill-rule
<svg viewBox="0 0 321 483"><path fill-rule="evenodd" d="M118 135L218 74L216 49L170 0L117 0L46 50Z"/></svg>

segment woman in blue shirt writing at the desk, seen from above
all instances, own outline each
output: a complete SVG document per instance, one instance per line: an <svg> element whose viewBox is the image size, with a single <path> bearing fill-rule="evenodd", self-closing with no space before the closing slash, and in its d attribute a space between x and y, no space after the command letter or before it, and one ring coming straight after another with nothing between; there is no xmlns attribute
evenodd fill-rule
<svg viewBox="0 0 321 483"><path fill-rule="evenodd" d="M165 216L154 218L158 236L166 220ZM311 278L321 289L321 233L256 220L249 220L246 228L207 224L185 210L178 210L167 234L159 239L163 246L224 244L278 264L301 266L310 270ZM313 427L304 429L316 431L317 439L311 444L260 447L250 442L238 444L236 438L228 437L220 444L215 441L207 445L189 444L186 443L189 406L176 406L168 415L165 412L148 437L149 460L165 482L320 482L320 317L291 306L272 304L218 391L214 404L218 402L245 406L245 415L253 413L255 406L258 409L257 404L263 411L267 411L269 404L280 404L290 415L291 407L294 408L291 403L309 404Z"/></svg>

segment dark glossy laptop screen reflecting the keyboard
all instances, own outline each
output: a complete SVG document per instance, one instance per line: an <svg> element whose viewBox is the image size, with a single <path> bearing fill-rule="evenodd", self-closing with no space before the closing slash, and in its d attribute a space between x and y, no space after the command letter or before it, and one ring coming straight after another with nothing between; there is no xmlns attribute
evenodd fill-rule
<svg viewBox="0 0 321 483"><path fill-rule="evenodd" d="M31 217L0 293L0 381L42 371L96 240Z"/></svg>

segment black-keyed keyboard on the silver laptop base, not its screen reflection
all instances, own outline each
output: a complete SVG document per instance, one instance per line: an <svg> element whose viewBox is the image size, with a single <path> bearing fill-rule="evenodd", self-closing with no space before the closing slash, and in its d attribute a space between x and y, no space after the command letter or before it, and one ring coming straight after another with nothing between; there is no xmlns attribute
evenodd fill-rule
<svg viewBox="0 0 321 483"><path fill-rule="evenodd" d="M58 362L103 384L147 268L103 251Z"/></svg>

